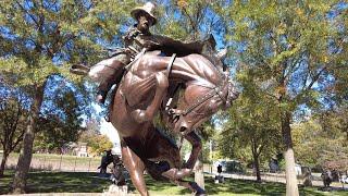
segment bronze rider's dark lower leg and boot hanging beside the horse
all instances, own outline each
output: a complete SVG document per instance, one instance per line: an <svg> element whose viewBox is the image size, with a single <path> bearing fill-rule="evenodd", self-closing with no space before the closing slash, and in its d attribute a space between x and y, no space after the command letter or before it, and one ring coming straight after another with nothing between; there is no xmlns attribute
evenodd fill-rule
<svg viewBox="0 0 348 196"><path fill-rule="evenodd" d="M100 71L102 76L100 85L98 86L97 102L104 103L108 91L114 84L119 84L122 79L124 73L125 64L120 61L113 61L111 64L105 65L103 70Z"/></svg>

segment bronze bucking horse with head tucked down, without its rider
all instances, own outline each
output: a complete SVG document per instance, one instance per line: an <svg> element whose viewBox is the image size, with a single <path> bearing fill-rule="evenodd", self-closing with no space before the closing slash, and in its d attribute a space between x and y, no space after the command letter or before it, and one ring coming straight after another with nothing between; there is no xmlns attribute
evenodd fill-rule
<svg viewBox="0 0 348 196"><path fill-rule="evenodd" d="M238 93L203 56L176 58L169 66L173 59L158 54L159 51L147 52L134 61L111 105L110 120L121 138L123 163L141 195L149 195L145 170L156 180L170 180L203 195L204 191L195 182L182 180L191 174L201 150L194 130L220 108L229 107ZM175 95L176 99L167 103ZM158 112L192 145L185 164L178 147L153 125Z"/></svg>

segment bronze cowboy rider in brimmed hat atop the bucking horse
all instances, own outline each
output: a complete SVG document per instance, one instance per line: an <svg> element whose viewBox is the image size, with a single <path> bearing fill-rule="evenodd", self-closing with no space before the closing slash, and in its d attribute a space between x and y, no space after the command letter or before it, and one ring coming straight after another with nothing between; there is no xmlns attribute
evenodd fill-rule
<svg viewBox="0 0 348 196"><path fill-rule="evenodd" d="M112 85L120 83L125 66L129 64L142 49L148 51L161 50L166 56L176 53L181 57L190 53L202 53L207 41L209 41L211 47L215 46L213 37L210 37L210 39L206 41L186 44L169 37L152 35L150 33L150 27L157 23L157 17L153 14L154 9L156 5L151 2L135 8L130 12L130 15L137 21L137 24L123 37L125 48L114 51L113 57L97 63L90 69L88 75L100 83L96 98L98 102L104 103L108 91ZM216 59L216 57L210 59Z"/></svg>

